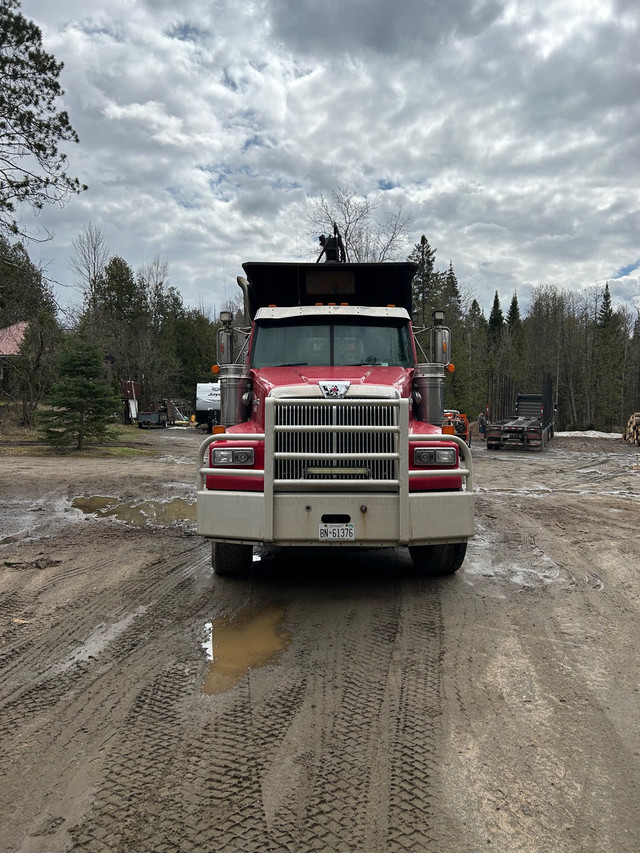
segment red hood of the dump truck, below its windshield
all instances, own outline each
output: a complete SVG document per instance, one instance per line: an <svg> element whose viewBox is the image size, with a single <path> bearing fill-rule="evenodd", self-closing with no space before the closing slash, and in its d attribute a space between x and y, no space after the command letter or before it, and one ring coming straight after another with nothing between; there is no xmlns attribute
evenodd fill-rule
<svg viewBox="0 0 640 853"><path fill-rule="evenodd" d="M346 397L406 397L413 368L357 365L355 367L263 367L251 371L254 387L264 396L322 397L319 382L348 382Z"/></svg>

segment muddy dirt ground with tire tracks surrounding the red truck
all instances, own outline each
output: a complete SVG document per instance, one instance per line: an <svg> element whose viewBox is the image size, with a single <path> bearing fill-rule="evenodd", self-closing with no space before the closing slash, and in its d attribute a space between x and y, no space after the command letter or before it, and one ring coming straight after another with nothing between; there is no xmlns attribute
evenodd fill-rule
<svg viewBox="0 0 640 853"><path fill-rule="evenodd" d="M3 853L640 849L637 448L474 445L445 580L313 550L225 581L200 440L0 439Z"/></svg>

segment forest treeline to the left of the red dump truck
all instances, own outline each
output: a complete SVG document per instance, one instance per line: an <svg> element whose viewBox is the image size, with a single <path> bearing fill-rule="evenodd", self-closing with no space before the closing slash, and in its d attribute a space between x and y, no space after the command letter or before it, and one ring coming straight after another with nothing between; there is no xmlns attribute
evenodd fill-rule
<svg viewBox="0 0 640 853"><path fill-rule="evenodd" d="M196 383L211 379L214 318L184 305L169 284L166 261L156 259L134 271L123 258L109 255L101 233L91 226L74 241L71 264L81 304L61 314L50 282L24 246L10 245L0 235L0 329L28 322L2 389L19 405L22 422L35 424L58 378L63 345L75 338L100 345L114 389L121 380L139 382L143 404L166 397L189 411Z"/></svg>

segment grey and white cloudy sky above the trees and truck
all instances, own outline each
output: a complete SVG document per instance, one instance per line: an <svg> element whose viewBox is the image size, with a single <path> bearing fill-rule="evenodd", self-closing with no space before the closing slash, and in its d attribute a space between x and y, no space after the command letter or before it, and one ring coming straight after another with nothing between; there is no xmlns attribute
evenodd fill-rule
<svg viewBox="0 0 640 853"><path fill-rule="evenodd" d="M22 0L64 62L89 185L37 220L72 285L87 223L219 309L244 260L314 260L309 198L413 217L489 313L531 288L640 308L637 0ZM28 216L23 224L29 225ZM61 301L78 301L58 287Z"/></svg>

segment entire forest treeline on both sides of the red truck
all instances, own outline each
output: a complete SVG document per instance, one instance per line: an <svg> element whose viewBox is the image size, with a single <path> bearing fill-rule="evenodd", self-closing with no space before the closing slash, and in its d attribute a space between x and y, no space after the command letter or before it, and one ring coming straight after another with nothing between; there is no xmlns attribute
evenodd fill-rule
<svg viewBox="0 0 640 853"><path fill-rule="evenodd" d="M445 312L452 332L456 369L446 380L447 407L475 419L496 377L533 393L550 375L558 429L621 431L629 414L640 411L640 315L614 309L608 284L579 292L540 285L524 312L515 293L503 311L496 292L486 317L477 299L460 288L453 264L437 269L436 250L426 237L409 259L417 265L413 321L419 360L430 357L434 310ZM118 380L133 380L142 385L143 402L167 397L188 411L196 383L211 379L217 318L184 305L179 289L169 284L166 261L134 271L109 254L92 226L74 241L71 266L81 304L61 320L42 271L22 244L0 236L0 329L28 322L3 387L5 399L20 406L23 422L36 420L58 379L61 347L74 336L99 344L114 387ZM222 307L240 313L238 300Z"/></svg>

